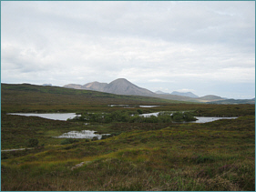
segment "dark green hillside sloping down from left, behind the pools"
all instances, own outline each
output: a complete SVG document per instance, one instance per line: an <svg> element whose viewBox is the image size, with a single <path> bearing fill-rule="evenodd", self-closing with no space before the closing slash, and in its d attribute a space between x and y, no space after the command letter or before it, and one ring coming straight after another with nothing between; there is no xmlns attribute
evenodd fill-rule
<svg viewBox="0 0 256 192"><path fill-rule="evenodd" d="M75 111L111 104L153 105L184 103L149 96L121 96L83 89L29 84L1 84L1 110L7 112Z"/></svg>

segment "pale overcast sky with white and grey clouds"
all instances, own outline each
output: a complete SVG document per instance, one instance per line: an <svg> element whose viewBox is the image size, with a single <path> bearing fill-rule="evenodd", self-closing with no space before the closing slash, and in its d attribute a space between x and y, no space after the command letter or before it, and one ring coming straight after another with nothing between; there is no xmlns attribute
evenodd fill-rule
<svg viewBox="0 0 256 192"><path fill-rule="evenodd" d="M255 96L254 1L2 1L1 82Z"/></svg>

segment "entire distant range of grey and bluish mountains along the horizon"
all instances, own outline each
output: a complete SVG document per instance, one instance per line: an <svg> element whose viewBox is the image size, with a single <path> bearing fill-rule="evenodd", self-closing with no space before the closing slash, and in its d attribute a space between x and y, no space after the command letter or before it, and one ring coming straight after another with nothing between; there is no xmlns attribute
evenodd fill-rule
<svg viewBox="0 0 256 192"><path fill-rule="evenodd" d="M99 82L95 81L95 82L87 83L84 86L77 85L77 84L68 84L64 87L106 92L106 93L117 94L117 95L153 96L153 97L158 97L158 98L179 100L179 101L189 101L189 102L207 103L207 102L217 102L217 101L219 102L219 101L226 100L220 96L213 96L213 95L199 97L191 92L180 93L180 92L174 91L171 94L169 94L169 93L157 91L156 93L154 93L152 91L149 91L146 88L142 88L142 87L139 87L139 86L136 86L136 85L130 83L125 78L118 78L118 79L110 82L109 84L108 83L99 83Z"/></svg>

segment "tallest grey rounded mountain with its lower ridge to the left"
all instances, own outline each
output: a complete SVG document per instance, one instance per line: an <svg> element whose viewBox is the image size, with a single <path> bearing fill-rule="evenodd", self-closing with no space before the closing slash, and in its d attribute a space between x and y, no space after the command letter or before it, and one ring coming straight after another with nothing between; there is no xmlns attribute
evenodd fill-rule
<svg viewBox="0 0 256 192"><path fill-rule="evenodd" d="M118 78L111 83L99 83L97 81L88 83L84 86L76 84L68 84L64 86L66 88L76 88L76 89L87 89L93 91L106 92L118 95L134 95L134 96L154 96L155 94L146 88L141 88L130 83L125 78Z"/></svg>

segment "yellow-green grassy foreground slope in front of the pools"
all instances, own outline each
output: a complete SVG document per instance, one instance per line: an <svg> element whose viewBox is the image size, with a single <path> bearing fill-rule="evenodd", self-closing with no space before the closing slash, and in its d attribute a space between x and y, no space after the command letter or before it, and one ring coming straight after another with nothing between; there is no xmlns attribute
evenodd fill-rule
<svg viewBox="0 0 256 192"><path fill-rule="evenodd" d="M48 121L49 125L55 123ZM2 153L1 189L255 189L254 116L206 124L111 126L120 127L121 134ZM81 162L85 162L82 167L71 170Z"/></svg>

